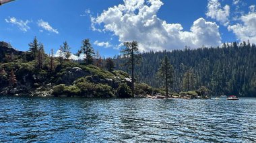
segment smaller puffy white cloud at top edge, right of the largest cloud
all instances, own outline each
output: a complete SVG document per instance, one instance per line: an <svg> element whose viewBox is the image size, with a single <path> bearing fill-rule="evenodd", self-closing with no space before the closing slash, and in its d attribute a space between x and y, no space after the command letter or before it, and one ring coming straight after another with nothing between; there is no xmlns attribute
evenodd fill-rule
<svg viewBox="0 0 256 143"><path fill-rule="evenodd" d="M233 3L238 3L239 1L233 1ZM229 5L225 5L222 8L218 0L209 0L207 5L207 17L211 17L212 19L216 19L220 21L224 26L228 26L229 20L228 17L230 15L230 7Z"/></svg>

